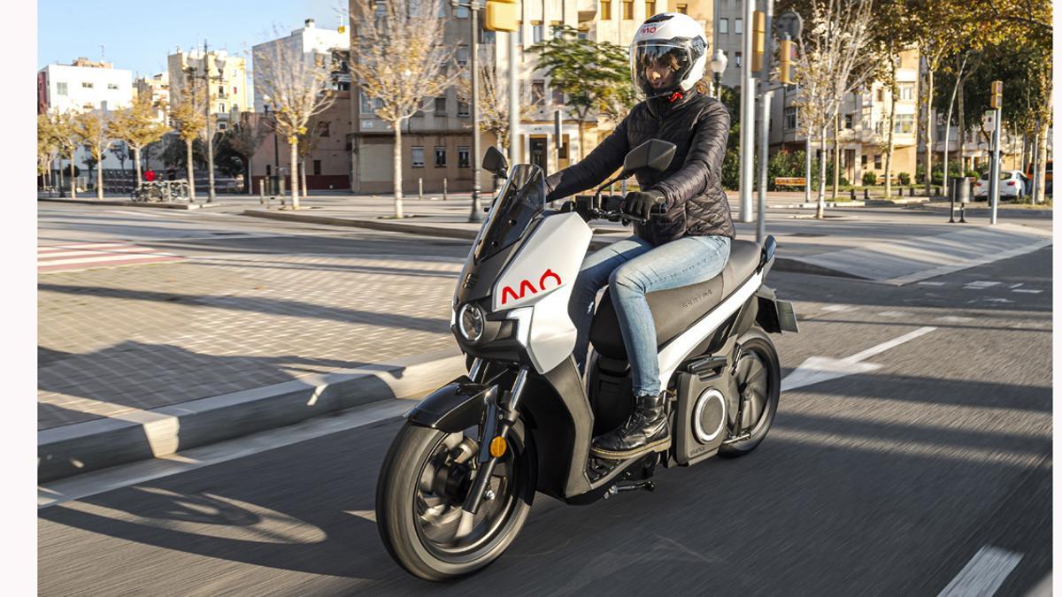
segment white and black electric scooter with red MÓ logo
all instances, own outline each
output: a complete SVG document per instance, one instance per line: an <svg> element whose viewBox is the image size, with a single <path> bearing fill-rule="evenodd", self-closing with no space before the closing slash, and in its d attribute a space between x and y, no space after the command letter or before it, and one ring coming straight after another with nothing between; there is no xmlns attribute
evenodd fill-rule
<svg viewBox="0 0 1062 597"><path fill-rule="evenodd" d="M469 373L406 416L380 470L376 516L388 551L409 573L446 580L474 573L512 543L535 492L589 504L652 490L657 464L690 465L752 451L778 404L778 356L768 332L796 331L790 303L764 286L775 241L735 240L722 273L650 293L671 445L626 461L590 455L590 440L630 414L630 365L607 292L590 328L584 382L568 317L601 191L636 170L665 170L674 146L650 140L593 197L547 209L542 169L507 175L491 148L484 169L507 178L468 254L450 327Z"/></svg>

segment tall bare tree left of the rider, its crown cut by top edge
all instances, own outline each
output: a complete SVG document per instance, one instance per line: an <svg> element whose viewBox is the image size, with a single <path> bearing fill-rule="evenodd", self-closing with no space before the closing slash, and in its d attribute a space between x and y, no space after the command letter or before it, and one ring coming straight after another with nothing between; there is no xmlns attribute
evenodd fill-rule
<svg viewBox="0 0 1062 597"><path fill-rule="evenodd" d="M352 81L378 102L376 115L394 131L395 217L401 208L401 123L424 98L452 87L461 75L455 48L444 46L440 0L352 0ZM478 158L478 156L476 156Z"/></svg>

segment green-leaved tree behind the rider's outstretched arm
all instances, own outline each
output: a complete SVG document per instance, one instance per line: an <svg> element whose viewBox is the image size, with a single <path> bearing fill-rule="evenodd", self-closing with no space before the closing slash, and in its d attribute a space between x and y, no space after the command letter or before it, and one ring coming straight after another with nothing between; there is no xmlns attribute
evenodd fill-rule
<svg viewBox="0 0 1062 597"><path fill-rule="evenodd" d="M531 48L537 52L535 68L545 71L554 88L567 97L567 107L579 122L579 155L586 155L583 129L592 113L626 116L635 96L630 93L631 72L627 49L609 41L580 39L569 25L554 25L553 35Z"/></svg>

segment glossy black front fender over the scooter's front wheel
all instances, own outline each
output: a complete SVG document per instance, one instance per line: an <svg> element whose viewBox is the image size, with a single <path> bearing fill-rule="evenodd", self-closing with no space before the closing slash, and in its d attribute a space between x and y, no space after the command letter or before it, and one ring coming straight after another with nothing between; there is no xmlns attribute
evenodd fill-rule
<svg viewBox="0 0 1062 597"><path fill-rule="evenodd" d="M457 433L479 425L483 409L497 393L497 386L473 383L462 375L421 400L406 413L406 419L423 427Z"/></svg>

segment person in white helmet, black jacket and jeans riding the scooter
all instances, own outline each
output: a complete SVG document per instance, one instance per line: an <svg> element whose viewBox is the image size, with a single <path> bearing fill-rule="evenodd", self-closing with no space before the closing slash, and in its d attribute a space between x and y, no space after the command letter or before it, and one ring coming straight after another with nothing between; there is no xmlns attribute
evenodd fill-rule
<svg viewBox="0 0 1062 597"><path fill-rule="evenodd" d="M635 408L617 429L594 439L601 458L626 459L670 445L666 396L660 383L656 329L646 294L706 282L730 256L734 224L721 186L730 114L707 96L701 81L708 54L704 29L692 18L663 13L648 19L631 44L631 78L645 101L579 164L550 175L553 201L601 184L623 156L656 138L675 143L663 172L636 172L641 190L621 209L643 219L635 235L586 257L572 290L569 313L578 329L576 361L585 368L597 292L609 286L631 363Z"/></svg>

